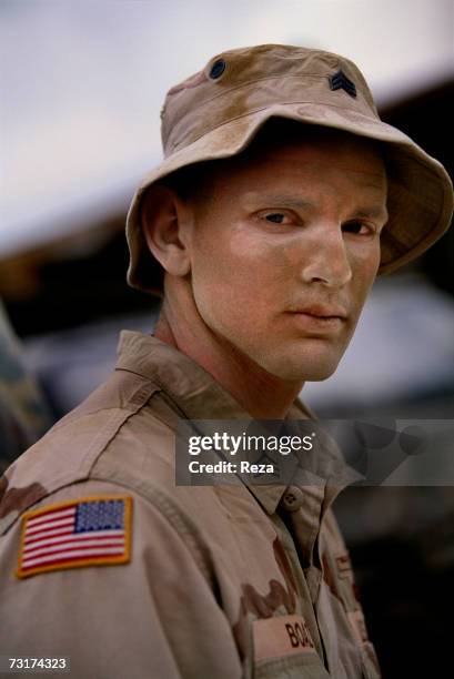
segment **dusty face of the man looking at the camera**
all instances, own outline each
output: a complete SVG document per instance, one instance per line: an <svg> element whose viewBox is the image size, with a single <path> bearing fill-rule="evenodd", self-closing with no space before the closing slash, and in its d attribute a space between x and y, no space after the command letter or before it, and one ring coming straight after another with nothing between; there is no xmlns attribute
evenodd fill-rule
<svg viewBox="0 0 454 679"><path fill-rule="evenodd" d="M380 263L379 151L343 133L268 144L210 188L189 241L202 322L274 376L329 377Z"/></svg>

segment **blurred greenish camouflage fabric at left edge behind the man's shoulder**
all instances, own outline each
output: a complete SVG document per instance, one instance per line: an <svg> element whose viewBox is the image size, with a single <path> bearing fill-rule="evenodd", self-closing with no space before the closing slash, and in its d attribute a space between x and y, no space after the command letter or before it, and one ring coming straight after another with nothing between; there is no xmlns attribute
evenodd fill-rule
<svg viewBox="0 0 454 679"><path fill-rule="evenodd" d="M0 472L51 425L43 395L28 374L0 302Z"/></svg>

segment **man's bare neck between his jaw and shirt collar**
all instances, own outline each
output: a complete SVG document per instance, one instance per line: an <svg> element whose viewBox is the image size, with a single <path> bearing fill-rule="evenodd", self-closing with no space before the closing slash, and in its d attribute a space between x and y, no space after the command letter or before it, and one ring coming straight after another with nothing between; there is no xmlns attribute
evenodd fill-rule
<svg viewBox="0 0 454 679"><path fill-rule="evenodd" d="M154 335L210 373L255 419L283 419L303 387L271 375L208 327L191 326L165 305Z"/></svg>

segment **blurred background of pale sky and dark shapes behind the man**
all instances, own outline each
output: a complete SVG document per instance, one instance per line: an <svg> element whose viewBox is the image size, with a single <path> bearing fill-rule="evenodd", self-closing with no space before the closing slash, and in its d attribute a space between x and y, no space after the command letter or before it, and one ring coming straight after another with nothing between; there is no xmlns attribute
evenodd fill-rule
<svg viewBox="0 0 454 679"><path fill-rule="evenodd" d="M124 282L124 217L161 158L167 90L215 53L350 57L382 118L453 175L451 0L2 0L0 19L0 470L109 375L119 330L152 332L153 300ZM321 417L453 420L453 295L451 231L377 281L339 371L304 399ZM336 514L384 677L445 676L453 487L350 488Z"/></svg>

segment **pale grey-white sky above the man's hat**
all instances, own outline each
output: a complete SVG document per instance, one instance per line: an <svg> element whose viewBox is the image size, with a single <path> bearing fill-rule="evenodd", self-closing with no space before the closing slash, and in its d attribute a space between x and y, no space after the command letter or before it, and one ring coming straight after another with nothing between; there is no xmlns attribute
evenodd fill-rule
<svg viewBox="0 0 454 679"><path fill-rule="evenodd" d="M343 53L379 104L453 75L451 0L1 0L0 257L125 210L167 90L224 49Z"/></svg>

